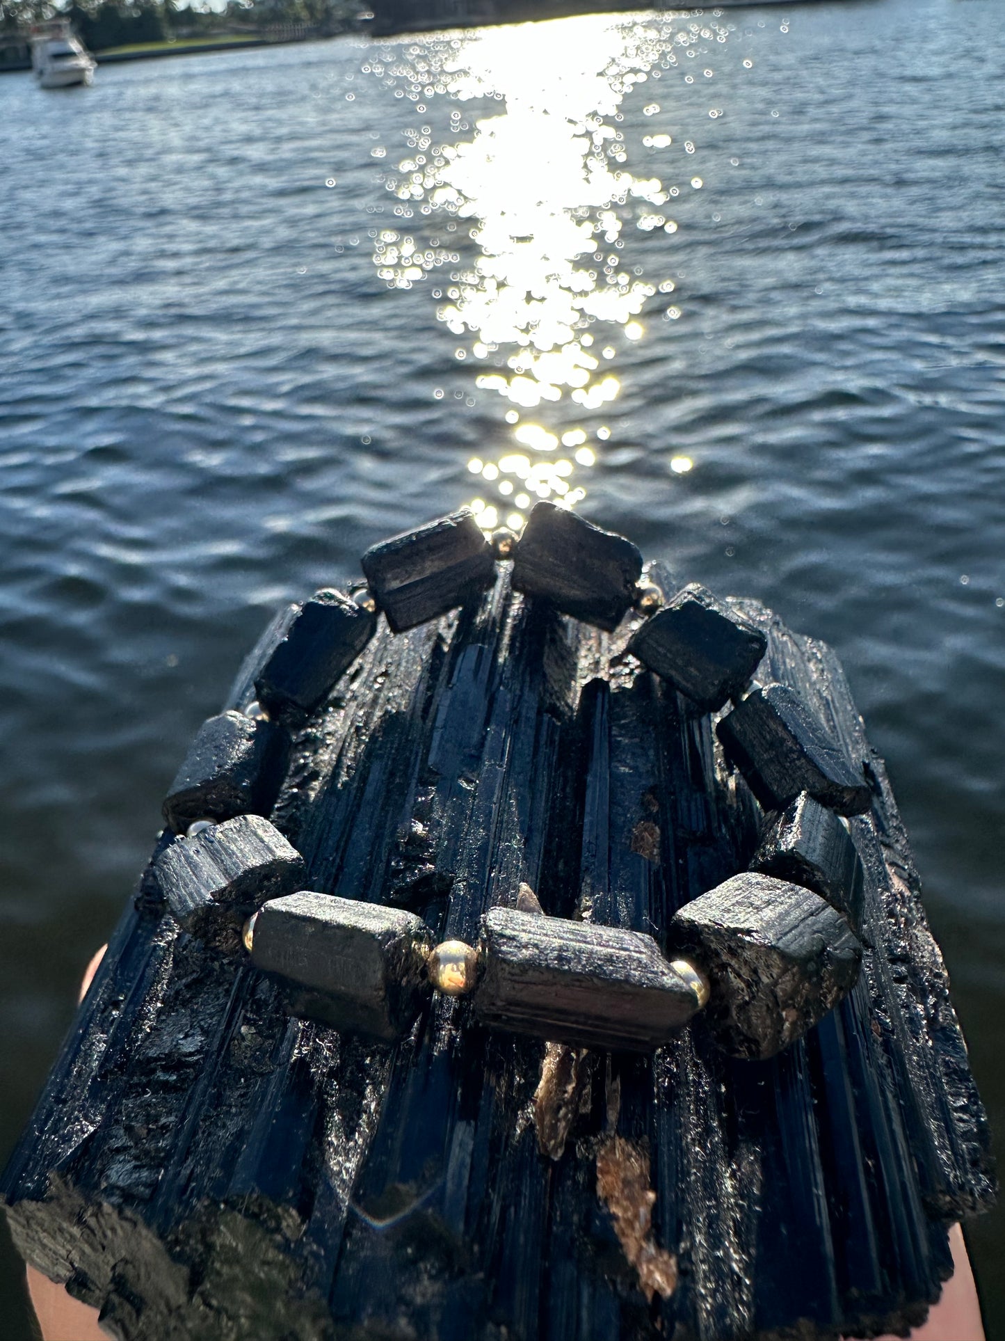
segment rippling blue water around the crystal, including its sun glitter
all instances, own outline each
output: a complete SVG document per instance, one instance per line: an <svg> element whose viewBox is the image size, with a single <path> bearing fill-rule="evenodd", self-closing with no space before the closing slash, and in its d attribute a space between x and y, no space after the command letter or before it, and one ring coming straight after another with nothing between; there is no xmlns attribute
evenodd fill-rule
<svg viewBox="0 0 1005 1341"><path fill-rule="evenodd" d="M4 1149L273 606L539 496L838 648L1001 1147L1004 75L875 0L0 80Z"/></svg>

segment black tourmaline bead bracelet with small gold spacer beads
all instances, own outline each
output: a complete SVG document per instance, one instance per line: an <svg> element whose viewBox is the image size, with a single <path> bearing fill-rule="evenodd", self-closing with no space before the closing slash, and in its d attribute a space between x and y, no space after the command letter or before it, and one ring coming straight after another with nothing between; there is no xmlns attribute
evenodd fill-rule
<svg viewBox="0 0 1005 1341"><path fill-rule="evenodd" d="M642 932L548 917L523 885L482 919L477 945L434 937L398 908L304 890L303 858L264 818L291 731L320 707L377 630L394 633L477 598L512 561L512 586L612 632L646 616L627 652L717 725L765 811L750 868L678 911L673 959ZM808 704L753 676L765 634L691 585L671 598L642 555L567 508L539 503L523 535L490 539L465 510L367 550L366 586L293 607L245 712L210 717L163 802L153 882L174 919L226 953L297 984L296 1010L381 1039L407 1033L437 991L470 996L492 1029L579 1047L651 1050L698 1011L732 1055L765 1058L854 986L863 873L843 815L870 787Z"/></svg>

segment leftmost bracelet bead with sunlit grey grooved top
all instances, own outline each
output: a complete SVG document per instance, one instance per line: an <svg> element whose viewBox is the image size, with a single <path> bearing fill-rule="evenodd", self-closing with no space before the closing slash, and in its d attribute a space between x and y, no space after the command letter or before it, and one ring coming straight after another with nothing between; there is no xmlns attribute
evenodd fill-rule
<svg viewBox="0 0 1005 1341"><path fill-rule="evenodd" d="M249 913L297 889L306 877L300 853L261 815L237 815L180 838L151 872L174 920L225 951L240 947Z"/></svg>

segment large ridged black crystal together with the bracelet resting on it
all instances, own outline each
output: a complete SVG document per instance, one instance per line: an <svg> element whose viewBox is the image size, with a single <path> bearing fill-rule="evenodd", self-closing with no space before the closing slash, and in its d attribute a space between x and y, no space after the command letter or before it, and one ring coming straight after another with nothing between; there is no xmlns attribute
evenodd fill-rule
<svg viewBox="0 0 1005 1341"><path fill-rule="evenodd" d="M993 1180L836 657L545 504L364 567L184 760L16 1246L127 1341L906 1336Z"/></svg>

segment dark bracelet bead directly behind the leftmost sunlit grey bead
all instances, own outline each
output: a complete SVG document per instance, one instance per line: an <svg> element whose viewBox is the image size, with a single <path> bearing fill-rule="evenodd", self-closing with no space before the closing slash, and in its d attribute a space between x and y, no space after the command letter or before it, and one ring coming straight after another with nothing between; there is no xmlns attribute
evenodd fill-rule
<svg viewBox="0 0 1005 1341"><path fill-rule="evenodd" d="M283 782L288 743L280 725L243 712L208 717L163 799L168 827L180 834L193 819L268 814Z"/></svg>

